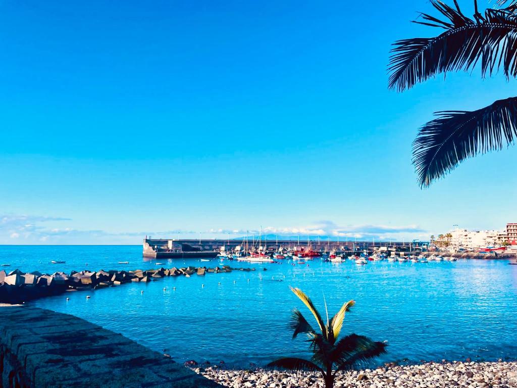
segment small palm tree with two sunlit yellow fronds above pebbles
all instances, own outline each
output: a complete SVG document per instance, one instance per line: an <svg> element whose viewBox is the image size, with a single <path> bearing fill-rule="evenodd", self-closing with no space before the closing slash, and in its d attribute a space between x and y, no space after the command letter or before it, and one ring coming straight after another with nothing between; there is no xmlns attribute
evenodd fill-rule
<svg viewBox="0 0 517 388"><path fill-rule="evenodd" d="M293 339L298 334L307 334L312 358L304 360L286 357L269 363L269 367L318 371L323 375L326 388L332 388L338 372L350 370L358 363L371 360L386 351L386 343L374 342L370 338L357 334L347 335L338 341L345 312L354 306L354 301L346 302L330 321L327 312L327 323L325 324L309 297L298 288L290 288L311 311L318 325L319 331L314 330L298 309L293 310L289 324L290 329L294 332ZM325 310L327 310L326 304Z"/></svg>

